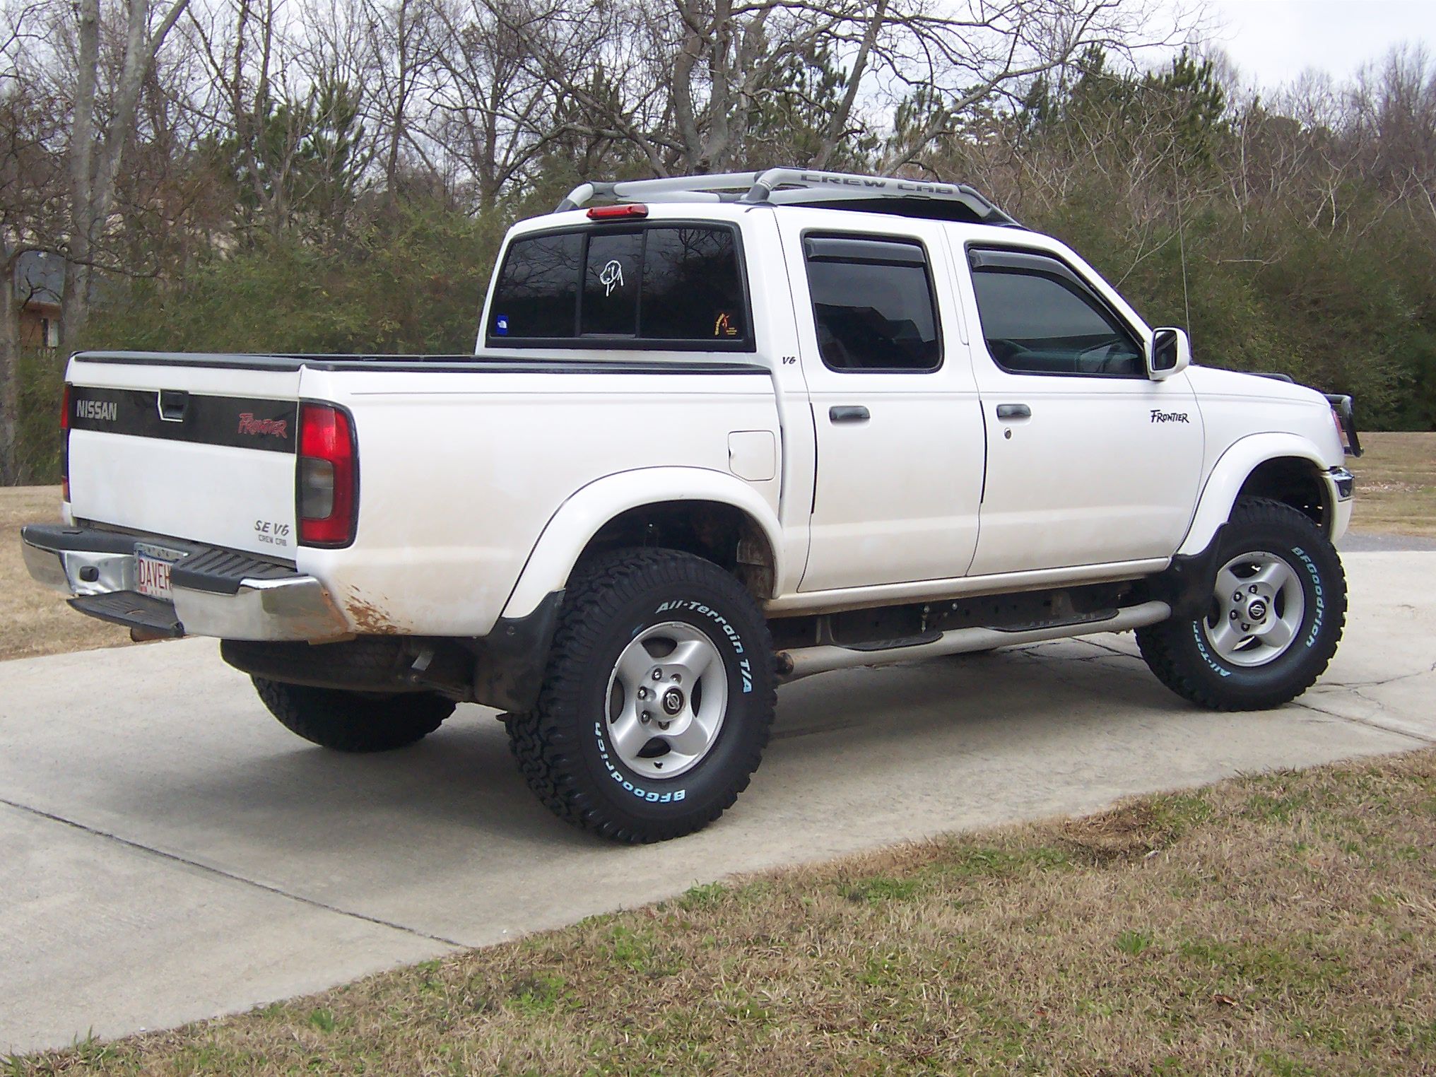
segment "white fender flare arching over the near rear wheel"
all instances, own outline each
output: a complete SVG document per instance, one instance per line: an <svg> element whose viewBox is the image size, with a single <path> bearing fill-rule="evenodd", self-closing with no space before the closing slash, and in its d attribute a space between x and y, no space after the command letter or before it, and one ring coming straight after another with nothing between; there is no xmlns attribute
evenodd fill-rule
<svg viewBox="0 0 1436 1077"><path fill-rule="evenodd" d="M563 590L579 554L613 517L673 501L715 501L741 511L761 528L773 551L774 579L783 579L783 527L757 490L737 475L709 468L638 468L595 480L559 505L528 554L501 616L524 617L544 597Z"/></svg>

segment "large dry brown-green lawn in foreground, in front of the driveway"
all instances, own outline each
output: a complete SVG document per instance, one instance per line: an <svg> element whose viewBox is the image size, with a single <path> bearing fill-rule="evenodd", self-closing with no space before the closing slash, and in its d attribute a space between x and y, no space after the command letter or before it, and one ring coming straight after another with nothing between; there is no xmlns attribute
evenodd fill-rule
<svg viewBox="0 0 1436 1077"><path fill-rule="evenodd" d="M712 885L102 1074L1430 1074L1436 752Z"/></svg>

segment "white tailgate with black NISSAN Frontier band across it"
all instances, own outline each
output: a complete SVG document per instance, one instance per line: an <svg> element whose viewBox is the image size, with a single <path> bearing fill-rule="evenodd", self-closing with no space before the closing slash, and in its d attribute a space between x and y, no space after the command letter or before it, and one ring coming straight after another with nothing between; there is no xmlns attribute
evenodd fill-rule
<svg viewBox="0 0 1436 1077"><path fill-rule="evenodd" d="M299 379L228 356L76 356L70 511L293 560Z"/></svg>

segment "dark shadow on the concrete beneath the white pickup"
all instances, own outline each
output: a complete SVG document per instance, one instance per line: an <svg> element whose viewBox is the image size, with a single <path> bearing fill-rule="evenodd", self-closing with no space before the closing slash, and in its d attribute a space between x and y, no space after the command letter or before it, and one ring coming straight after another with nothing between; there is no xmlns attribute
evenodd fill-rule
<svg viewBox="0 0 1436 1077"><path fill-rule="evenodd" d="M461 707L421 744L376 755L307 745L266 724L257 701L244 711L236 718L244 735L208 754L215 765L148 775L129 796L116 788L111 807L129 814L181 803L190 820L204 819L228 840L292 853L349 841L392 841L405 856L416 841L431 853L451 846L457 856L475 841L530 850L596 844L538 806L485 708ZM780 689L773 742L732 813L797 807L844 783L902 785L905 771L933 760L949 764L956 788L975 754L1070 757L1078 738L1122 737L1133 722L1176 711L1190 708L1140 661L1100 652L1008 651L827 673Z"/></svg>

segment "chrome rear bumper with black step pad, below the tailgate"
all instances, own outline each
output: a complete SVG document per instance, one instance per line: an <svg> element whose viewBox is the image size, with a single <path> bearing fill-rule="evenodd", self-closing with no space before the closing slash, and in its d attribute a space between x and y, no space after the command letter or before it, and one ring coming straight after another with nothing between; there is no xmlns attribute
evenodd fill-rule
<svg viewBox="0 0 1436 1077"><path fill-rule="evenodd" d="M270 561L89 527L34 524L20 538L30 576L70 595L82 613L148 635L312 643L353 635L319 580ZM174 603L138 590L135 544L144 541L185 551L171 572Z"/></svg>

